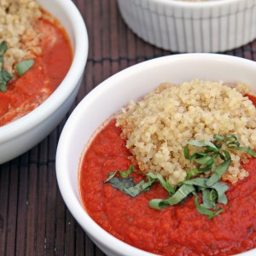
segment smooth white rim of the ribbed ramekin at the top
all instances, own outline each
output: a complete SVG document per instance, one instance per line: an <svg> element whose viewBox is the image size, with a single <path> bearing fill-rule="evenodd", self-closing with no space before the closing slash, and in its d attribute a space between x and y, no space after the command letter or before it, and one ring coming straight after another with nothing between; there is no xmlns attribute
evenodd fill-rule
<svg viewBox="0 0 256 256"><path fill-rule="evenodd" d="M198 9L198 8L208 8L208 7L218 7L227 4L239 3L241 0L211 0L206 2L186 2L180 0L148 0L150 3L170 5L176 7L183 7L188 9Z"/></svg>

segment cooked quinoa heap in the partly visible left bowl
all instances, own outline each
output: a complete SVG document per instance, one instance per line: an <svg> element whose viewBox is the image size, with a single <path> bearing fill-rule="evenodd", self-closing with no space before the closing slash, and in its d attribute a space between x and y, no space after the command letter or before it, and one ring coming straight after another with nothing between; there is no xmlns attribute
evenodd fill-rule
<svg viewBox="0 0 256 256"><path fill-rule="evenodd" d="M6 41L3 68L14 72L14 65L40 55L40 34L34 23L42 15L34 0L0 0L0 43Z"/></svg>

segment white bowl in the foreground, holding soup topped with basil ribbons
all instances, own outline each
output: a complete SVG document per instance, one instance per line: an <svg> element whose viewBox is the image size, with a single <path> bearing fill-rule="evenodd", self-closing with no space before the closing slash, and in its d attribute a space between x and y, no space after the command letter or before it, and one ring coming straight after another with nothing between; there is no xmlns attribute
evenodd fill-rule
<svg viewBox="0 0 256 256"><path fill-rule="evenodd" d="M79 197L79 163L94 131L131 99L137 100L161 82L191 79L244 81L256 88L256 63L229 55L183 54L145 61L113 75L84 97L67 120L56 153L61 195L73 217L108 255L152 255L108 234L85 212ZM255 255L256 249L244 255Z"/></svg>

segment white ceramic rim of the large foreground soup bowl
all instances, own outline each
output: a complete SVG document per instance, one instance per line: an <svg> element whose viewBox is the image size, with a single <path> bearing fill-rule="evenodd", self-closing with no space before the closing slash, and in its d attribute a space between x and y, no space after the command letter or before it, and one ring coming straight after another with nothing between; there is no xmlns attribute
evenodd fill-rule
<svg viewBox="0 0 256 256"><path fill-rule="evenodd" d="M86 232L88 235L97 241L97 236L101 236L100 241L104 247L109 247L110 244L114 245L111 247L116 255L119 253L124 253L125 255L140 255L140 256L149 256L155 255L153 253L148 253L142 251L136 247L132 247L129 244L126 244L123 241L115 238L110 235L106 230L103 230L98 224L90 218L90 216L85 213L84 208L81 205L80 199L75 195L71 181L69 176L73 175L67 169L67 161L69 154L69 143L71 143L70 134L73 132L73 127L75 125L79 125L79 113L81 109L90 106L91 102L93 102L99 94L106 92L106 90L111 89L113 84L120 83L120 80L125 80L130 76L136 75L136 73L140 73L148 67L157 67L160 63L171 63L175 61L180 61L186 59L188 61L198 59L199 61L225 61L227 64L236 59L236 62L241 66L245 67L255 67L256 70L256 62L249 61L247 59L243 59L236 56L231 55L219 55L219 54L179 54L179 55L169 55L163 56L159 58L155 58L149 61L143 61L142 63L138 63L132 67L127 67L119 73L114 74L112 77L106 79L99 84L94 90L91 90L90 93L84 97L84 99L79 103L77 108L74 109L73 113L70 115L69 119L67 119L67 123L64 126L61 137L58 143L57 153L56 153L56 176L59 188L61 190L61 195L63 200L65 201L68 209L73 214L73 217L78 221L78 223L82 227L86 227ZM102 120L104 121L104 120ZM85 145L84 145L85 146ZM81 152L82 154L82 152ZM73 170L73 173L77 175L78 170ZM255 251L253 251L255 253ZM251 253L241 253L239 255L253 255Z"/></svg>

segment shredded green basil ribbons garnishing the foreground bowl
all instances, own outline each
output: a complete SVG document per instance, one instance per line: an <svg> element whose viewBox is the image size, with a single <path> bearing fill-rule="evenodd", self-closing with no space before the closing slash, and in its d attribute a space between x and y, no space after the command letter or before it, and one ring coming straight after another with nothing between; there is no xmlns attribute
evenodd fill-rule
<svg viewBox="0 0 256 256"><path fill-rule="evenodd" d="M247 154L256 157L256 152L254 152L253 149L240 147L236 135L214 135L213 138L213 143L209 141L198 142L192 140L185 146L185 158L191 162L195 160L196 165L201 167L189 170L187 172L186 180L183 183L178 184L177 187L172 187L171 183L159 173L154 174L152 172L143 174L147 178L147 181L142 180L135 184L133 182L133 177L129 177L132 172L137 172L132 165L129 166L128 170L125 172L110 172L108 179L105 180L104 183L111 183L113 188L119 189L126 195L135 197L148 191L153 183L159 182L169 193L169 196L166 199L153 199L149 201L149 207L160 210L165 207L180 204L185 201L189 195L195 195L195 207L197 211L207 215L208 219L211 219L224 211L222 207L217 207L217 204L226 205L228 202L225 192L229 189L229 186L220 182L221 177L227 172L231 164L230 153L227 148L243 150ZM225 149L222 148L223 144L226 146ZM203 151L189 155L189 145L203 148ZM214 160L218 157L222 162L216 166ZM207 177L196 177L203 172L210 171L211 174ZM118 172L120 178L115 177ZM199 193L201 193L201 203L199 202Z"/></svg>

